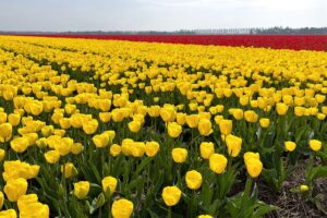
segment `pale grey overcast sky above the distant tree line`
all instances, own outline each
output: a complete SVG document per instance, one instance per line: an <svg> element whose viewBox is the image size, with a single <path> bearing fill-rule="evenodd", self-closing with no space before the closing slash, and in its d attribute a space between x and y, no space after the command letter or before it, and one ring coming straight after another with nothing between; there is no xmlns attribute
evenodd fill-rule
<svg viewBox="0 0 327 218"><path fill-rule="evenodd" d="M0 31L327 26L327 0L0 0Z"/></svg>

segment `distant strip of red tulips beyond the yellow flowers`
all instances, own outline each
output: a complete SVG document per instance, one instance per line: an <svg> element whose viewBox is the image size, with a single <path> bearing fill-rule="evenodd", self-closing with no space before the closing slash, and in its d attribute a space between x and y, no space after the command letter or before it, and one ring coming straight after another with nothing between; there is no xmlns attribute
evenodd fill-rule
<svg viewBox="0 0 327 218"><path fill-rule="evenodd" d="M49 37L110 39L169 44L327 50L326 35L47 35Z"/></svg>

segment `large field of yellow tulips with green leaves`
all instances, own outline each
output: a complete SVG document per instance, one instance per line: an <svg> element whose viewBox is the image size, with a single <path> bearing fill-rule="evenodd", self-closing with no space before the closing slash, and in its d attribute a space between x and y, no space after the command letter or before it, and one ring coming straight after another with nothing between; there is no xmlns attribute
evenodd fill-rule
<svg viewBox="0 0 327 218"><path fill-rule="evenodd" d="M0 36L0 218L258 218L299 166L326 216L326 94L323 51Z"/></svg>

